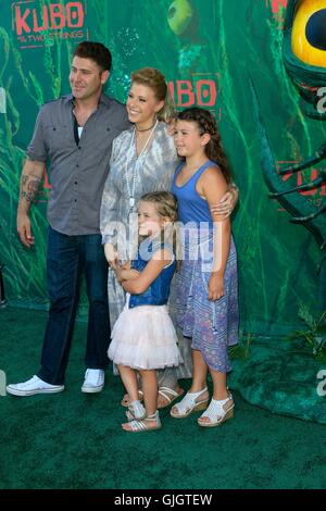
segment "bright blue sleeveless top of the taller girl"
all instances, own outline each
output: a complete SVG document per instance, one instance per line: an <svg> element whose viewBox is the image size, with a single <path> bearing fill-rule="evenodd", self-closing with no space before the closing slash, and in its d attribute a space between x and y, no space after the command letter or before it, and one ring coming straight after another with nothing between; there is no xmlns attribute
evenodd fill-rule
<svg viewBox="0 0 326 511"><path fill-rule="evenodd" d="M184 164L185 163L183 162L177 166L171 188L171 191L176 196L178 201L179 221L183 222L183 224L192 222L197 225L199 225L200 222L206 222L209 223L209 227L213 227L209 203L206 200L200 197L196 189L196 185L202 173L209 166L217 165L215 162L209 160L201 167L199 167L198 171L195 172L195 174L190 177L190 179L187 180L187 183L185 183L185 185L177 186L176 178L179 175Z"/></svg>

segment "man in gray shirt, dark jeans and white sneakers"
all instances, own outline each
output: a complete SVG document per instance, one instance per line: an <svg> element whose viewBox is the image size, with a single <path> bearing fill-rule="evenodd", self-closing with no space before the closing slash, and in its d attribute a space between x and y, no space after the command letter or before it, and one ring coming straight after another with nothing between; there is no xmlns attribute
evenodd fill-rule
<svg viewBox="0 0 326 511"><path fill-rule="evenodd" d="M48 290L50 312L37 375L8 385L15 396L60 392L71 349L82 276L89 301L86 373L83 392L104 386L110 324L108 266L99 215L112 140L129 127L125 107L104 96L111 53L99 42L77 46L70 73L72 95L45 104L37 117L21 179L17 232L34 245L28 211L50 161L48 205Z"/></svg>

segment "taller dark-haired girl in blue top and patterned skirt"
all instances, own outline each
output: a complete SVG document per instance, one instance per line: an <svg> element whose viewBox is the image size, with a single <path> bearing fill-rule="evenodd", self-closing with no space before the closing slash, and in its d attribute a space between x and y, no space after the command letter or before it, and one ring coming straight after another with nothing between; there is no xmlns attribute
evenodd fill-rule
<svg viewBox="0 0 326 511"><path fill-rule="evenodd" d="M193 108L178 115L175 145L183 162L172 191L183 223L184 261L176 275L176 317L191 337L191 388L171 414L185 417L208 408L208 370L213 397L198 419L203 427L233 416L234 401L226 386L230 371L227 348L238 342L238 284L236 248L229 217L212 213L230 183L214 117Z"/></svg>

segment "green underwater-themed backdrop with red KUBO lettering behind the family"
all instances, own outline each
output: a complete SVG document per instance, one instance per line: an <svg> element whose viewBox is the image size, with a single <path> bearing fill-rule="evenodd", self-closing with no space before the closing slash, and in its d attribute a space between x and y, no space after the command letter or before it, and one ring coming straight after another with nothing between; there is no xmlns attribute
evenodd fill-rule
<svg viewBox="0 0 326 511"><path fill-rule="evenodd" d="M43 307L46 291L46 176L33 208L36 245L16 235L18 182L40 104L70 91L73 47L99 40L113 53L108 91L125 101L133 70L159 67L178 108L200 104L218 121L240 203L234 214L239 254L241 327L279 334L298 326L299 302L312 310L319 250L311 234L267 197L249 76L279 164L312 153L325 127L298 107L281 58L286 1L268 0L30 0L0 2L0 262L7 298ZM192 18L183 27L191 5ZM168 24L178 22L174 30ZM186 25L186 24L185 24ZM174 27L174 25L173 25ZM184 32L181 32L184 28ZM315 173L317 170L314 171ZM305 180L313 176L311 171ZM293 183L301 176L292 176ZM321 201L325 186L310 192ZM85 307L85 297L82 307ZM83 309L82 309L83 313Z"/></svg>

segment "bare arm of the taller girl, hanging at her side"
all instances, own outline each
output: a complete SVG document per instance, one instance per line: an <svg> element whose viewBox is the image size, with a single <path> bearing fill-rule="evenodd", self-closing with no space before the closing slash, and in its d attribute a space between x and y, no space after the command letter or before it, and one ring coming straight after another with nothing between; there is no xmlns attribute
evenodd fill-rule
<svg viewBox="0 0 326 511"><path fill-rule="evenodd" d="M209 167L198 183L199 192L208 200L210 208L227 191L226 180L218 167ZM230 221L211 212L214 222L214 259L209 283L209 299L218 300L224 295L224 272L229 253Z"/></svg>

